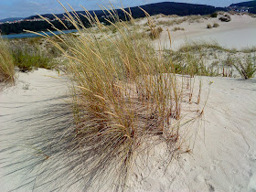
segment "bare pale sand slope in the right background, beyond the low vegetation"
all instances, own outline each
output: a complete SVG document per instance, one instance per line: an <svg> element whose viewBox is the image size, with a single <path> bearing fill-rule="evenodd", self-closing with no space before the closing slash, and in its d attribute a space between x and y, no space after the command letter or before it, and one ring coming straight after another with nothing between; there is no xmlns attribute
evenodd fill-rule
<svg viewBox="0 0 256 192"><path fill-rule="evenodd" d="M180 17L177 17L178 19ZM173 18L169 18L170 20ZM165 18L168 20L168 18ZM157 21L157 20L156 20ZM220 46L226 48L245 48L256 46L256 18L251 16L231 16L230 22L221 22L218 18L200 19L200 22L190 23L188 21L168 27L172 35L172 48L178 49L190 41L216 41ZM156 22L157 23L157 22ZM219 27L208 29L218 23ZM172 31L174 27L183 27L184 31ZM166 27L163 27L164 29ZM161 35L161 41L165 42L165 48L170 48L166 32Z"/></svg>

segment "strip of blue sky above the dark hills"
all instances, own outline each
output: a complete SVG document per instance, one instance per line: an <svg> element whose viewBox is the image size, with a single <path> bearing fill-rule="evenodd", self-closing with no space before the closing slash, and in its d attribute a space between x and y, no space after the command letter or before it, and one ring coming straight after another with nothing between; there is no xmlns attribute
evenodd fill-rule
<svg viewBox="0 0 256 192"><path fill-rule="evenodd" d="M120 0L60 0L63 5L71 5L75 10L81 10L83 5L89 10L99 9L98 5L108 5L112 2L115 7L120 6ZM123 6L145 5L168 0L123 0ZM171 2L182 2L191 4L203 4L214 6L227 6L232 3L247 0L171 0ZM57 0L0 0L0 19L6 17L26 17L37 14L63 13L62 7Z"/></svg>

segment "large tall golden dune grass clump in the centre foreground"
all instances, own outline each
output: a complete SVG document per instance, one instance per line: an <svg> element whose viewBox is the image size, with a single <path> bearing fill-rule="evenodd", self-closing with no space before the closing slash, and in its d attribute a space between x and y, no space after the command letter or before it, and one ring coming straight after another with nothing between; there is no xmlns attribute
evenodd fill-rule
<svg viewBox="0 0 256 192"><path fill-rule="evenodd" d="M112 16L106 21L116 28L114 37L105 31L109 27L87 10L83 16L96 26L93 33L83 26L78 14L70 15L65 10L80 36L58 37L62 44L45 37L69 59L66 72L73 82L70 105L74 125L65 130L70 133L65 141L69 142L68 149L61 146L58 156L44 153L44 161L59 157L54 167L48 167L56 170L53 182L71 169L73 177L65 184L67 187L82 180L88 190L96 179L101 183L107 179L116 190L123 190L134 158L152 145L164 141L170 156L189 151L182 146L185 141L181 133L187 134L182 125L193 122L202 112L184 120L183 105L191 89L184 86L183 77L176 77L174 64L167 64L161 51L155 51L151 39L141 39L112 7L105 12ZM130 13L123 12L133 21ZM144 13L152 34L159 33L151 17ZM100 39L96 33L101 34ZM62 139L67 138L64 135ZM61 165L64 158L69 159L69 165Z"/></svg>

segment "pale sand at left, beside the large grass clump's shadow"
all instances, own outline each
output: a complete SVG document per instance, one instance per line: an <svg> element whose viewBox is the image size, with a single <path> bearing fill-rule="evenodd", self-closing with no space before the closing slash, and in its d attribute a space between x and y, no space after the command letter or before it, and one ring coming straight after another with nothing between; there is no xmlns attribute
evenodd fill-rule
<svg viewBox="0 0 256 192"><path fill-rule="evenodd" d="M47 69L38 69L29 73L18 73L16 85L7 87L4 91L0 91L0 191L10 191L16 187L27 183L27 178L22 173L15 176L4 176L11 168L3 168L7 165L6 159L15 159L19 153L9 155L1 150L5 147L19 146L23 148L23 144L19 143L22 133L26 133L27 124L23 122L27 118L35 118L36 113L44 107L56 102L65 102L62 96L67 95L68 81L65 77L60 77L57 72ZM33 132L33 130L30 130ZM28 131L29 132L29 131ZM18 138L17 136L20 135ZM27 146L29 150L29 145ZM26 150L26 147L24 147ZM27 150L27 151L28 151ZM11 150L10 150L11 151ZM35 153L37 154L37 153ZM14 168L14 167L12 167ZM17 191L32 191L32 187L28 186Z"/></svg>

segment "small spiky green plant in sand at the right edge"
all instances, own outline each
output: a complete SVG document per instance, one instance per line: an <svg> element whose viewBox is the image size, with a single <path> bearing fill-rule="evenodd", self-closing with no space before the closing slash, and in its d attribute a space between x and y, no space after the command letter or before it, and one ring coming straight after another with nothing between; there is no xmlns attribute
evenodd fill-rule
<svg viewBox="0 0 256 192"><path fill-rule="evenodd" d="M251 56L249 56L244 62L240 60L238 64L234 64L234 67L240 72L241 77L246 80L251 79L256 72L255 58L252 59Z"/></svg>

